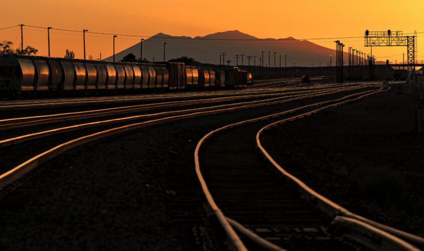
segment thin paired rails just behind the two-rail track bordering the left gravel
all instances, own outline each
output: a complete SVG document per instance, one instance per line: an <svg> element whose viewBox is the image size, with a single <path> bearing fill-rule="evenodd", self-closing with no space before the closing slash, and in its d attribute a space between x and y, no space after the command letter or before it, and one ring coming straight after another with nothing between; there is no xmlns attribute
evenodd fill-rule
<svg viewBox="0 0 424 251"><path fill-rule="evenodd" d="M325 89L325 88L321 88L320 90L322 89ZM330 88L327 88L327 89L330 89ZM166 108L170 106L172 107L174 105L206 104L206 103L213 103L213 102L232 101L232 100L244 99L244 98L288 95L288 94L294 94L294 93L307 93L307 92L313 92L313 91L315 91L315 89L305 90L305 91L276 92L271 94L253 94L253 95L239 95L239 96L207 98L207 99L171 101L171 102L161 102L161 103L152 103L152 104L119 106L119 107L113 107L113 108L87 110L87 111L56 113L56 114L49 114L49 115L7 118L7 119L0 119L0 131L40 126L42 124L47 124L47 123L80 120L84 118L103 117L103 116L110 116L115 114L125 114L125 113L137 112L137 111L151 110L155 108ZM8 123L8 122L11 122L11 123Z"/></svg>

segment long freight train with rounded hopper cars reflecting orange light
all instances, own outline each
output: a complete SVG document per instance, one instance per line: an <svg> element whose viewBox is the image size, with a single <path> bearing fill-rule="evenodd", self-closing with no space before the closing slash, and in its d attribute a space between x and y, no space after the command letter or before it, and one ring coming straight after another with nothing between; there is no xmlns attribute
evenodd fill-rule
<svg viewBox="0 0 424 251"><path fill-rule="evenodd" d="M2 97L117 94L167 89L244 88L252 74L237 67L211 69L38 56L0 56Z"/></svg>

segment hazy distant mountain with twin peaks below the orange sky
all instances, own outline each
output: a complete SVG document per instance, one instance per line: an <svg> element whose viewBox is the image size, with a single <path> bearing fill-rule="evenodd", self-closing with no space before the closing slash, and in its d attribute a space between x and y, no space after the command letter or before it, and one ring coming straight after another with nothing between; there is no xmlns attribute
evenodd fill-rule
<svg viewBox="0 0 424 251"><path fill-rule="evenodd" d="M178 39L175 39L178 38ZM219 40L213 39L240 39L248 41L234 41L234 40ZM221 52L226 52L225 60L231 60L230 65L236 64L235 55L244 54L256 56L256 65L259 65L259 57L262 56L264 51L264 65L268 64L268 51L270 51L270 64L274 65L274 55L276 52L276 65L279 66L279 55L281 55L281 66L284 66L285 55L288 54L287 66L327 66L332 57L332 65L335 65L336 51L314 44L307 40L296 40L295 38L288 37L282 39L266 39L269 41L259 40L256 37L242 33L240 31L226 31L209 34L204 37L174 37L167 34L159 33L152 38L143 41L143 57L149 61L163 61L164 43L166 42L166 60L178 58L181 56L193 57L196 61L202 63L219 64L219 55ZM335 47L335 45L334 45ZM120 60L128 53L133 53L137 57L140 56L140 43L137 43L123 51L116 53L115 59ZM248 64L248 60L244 56L243 65ZM344 53L345 61L347 61L347 53ZM105 60L111 61L113 58L110 56ZM225 63L227 64L227 63ZM238 60L241 65L241 57ZM253 65L253 58L250 61Z"/></svg>

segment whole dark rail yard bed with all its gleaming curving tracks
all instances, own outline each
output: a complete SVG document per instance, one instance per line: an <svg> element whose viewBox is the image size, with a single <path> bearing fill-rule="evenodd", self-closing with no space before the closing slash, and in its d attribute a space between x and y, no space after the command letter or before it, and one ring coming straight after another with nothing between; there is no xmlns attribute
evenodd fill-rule
<svg viewBox="0 0 424 251"><path fill-rule="evenodd" d="M387 95L379 82L300 80L2 101L2 248L421 248L419 232L270 155L269 128Z"/></svg>

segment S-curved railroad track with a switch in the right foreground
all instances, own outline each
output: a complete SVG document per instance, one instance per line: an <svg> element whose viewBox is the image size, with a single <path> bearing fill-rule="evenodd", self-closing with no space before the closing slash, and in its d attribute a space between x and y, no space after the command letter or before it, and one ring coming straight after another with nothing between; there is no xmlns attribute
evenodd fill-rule
<svg viewBox="0 0 424 251"><path fill-rule="evenodd" d="M276 124L381 91L232 123L199 141L196 172L210 213L233 248L418 250L414 245L422 238L352 214L282 169L260 144L261 133Z"/></svg>

